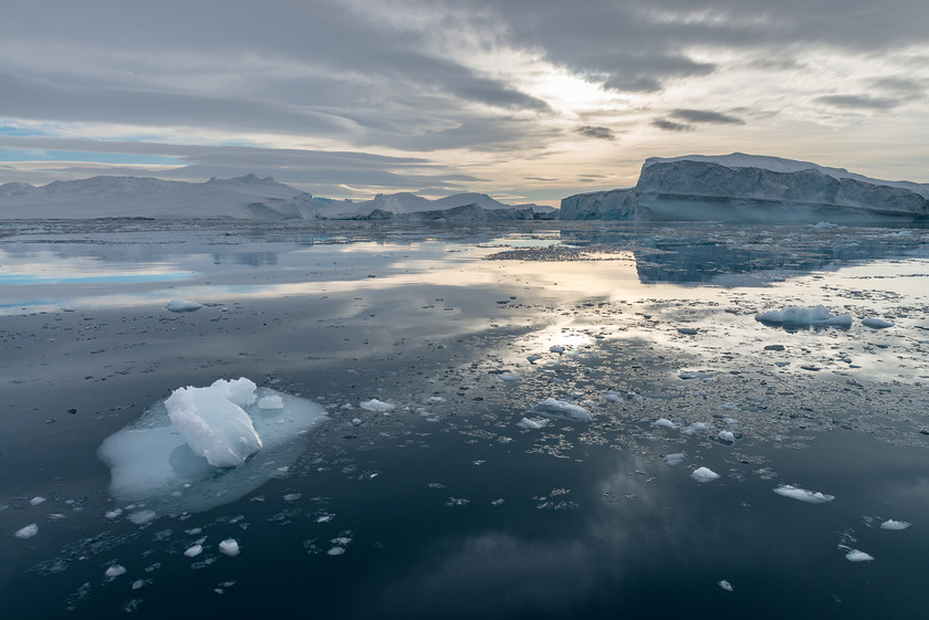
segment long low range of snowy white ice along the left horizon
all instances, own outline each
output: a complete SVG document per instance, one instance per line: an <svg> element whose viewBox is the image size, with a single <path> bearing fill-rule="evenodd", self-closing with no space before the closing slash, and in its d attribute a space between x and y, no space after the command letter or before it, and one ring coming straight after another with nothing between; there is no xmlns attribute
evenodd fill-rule
<svg viewBox="0 0 929 620"><path fill-rule="evenodd" d="M478 211L460 210L470 206ZM429 213L418 219L437 221L443 219L443 212L456 209L458 211L450 213L456 221L461 221L466 212L478 220L488 219L482 211L521 212L520 219L526 218L526 212L529 219L554 212L554 209L535 204L503 204L483 193L459 193L438 200L407 192L378 195L373 200L361 202L330 200L314 198L271 177L254 175L210 179L203 183L140 177L93 177L54 181L42 187L28 183L0 186L0 219L319 220L393 219L394 216ZM489 217L513 219L510 214Z"/></svg>

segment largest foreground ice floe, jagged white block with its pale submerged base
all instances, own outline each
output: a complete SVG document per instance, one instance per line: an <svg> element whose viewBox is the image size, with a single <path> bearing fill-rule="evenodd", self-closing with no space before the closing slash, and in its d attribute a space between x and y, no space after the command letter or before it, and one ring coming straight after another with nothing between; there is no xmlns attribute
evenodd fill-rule
<svg viewBox="0 0 929 620"><path fill-rule="evenodd" d="M270 400L269 400L270 399ZM262 403L278 403L267 408ZM182 387L104 440L118 502L152 502L170 514L201 512L258 488L303 449L298 435L325 418L319 404L249 379Z"/></svg>

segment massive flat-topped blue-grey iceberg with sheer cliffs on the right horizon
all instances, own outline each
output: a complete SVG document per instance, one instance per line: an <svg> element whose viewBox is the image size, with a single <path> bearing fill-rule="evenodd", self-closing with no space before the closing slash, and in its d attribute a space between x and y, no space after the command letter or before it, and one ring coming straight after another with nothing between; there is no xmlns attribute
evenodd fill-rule
<svg viewBox="0 0 929 620"><path fill-rule="evenodd" d="M734 153L653 157L636 187L562 201L561 219L873 222L929 219L929 186Z"/></svg>

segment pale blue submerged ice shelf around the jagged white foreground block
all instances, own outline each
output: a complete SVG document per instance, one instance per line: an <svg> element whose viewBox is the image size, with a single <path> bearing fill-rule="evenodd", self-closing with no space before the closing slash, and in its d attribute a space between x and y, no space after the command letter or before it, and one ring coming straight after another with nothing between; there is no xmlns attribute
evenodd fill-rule
<svg viewBox="0 0 929 620"><path fill-rule="evenodd" d="M242 389L249 388L248 383L220 385L227 400L233 399L230 403L242 403L238 406L251 419L264 445L260 451L237 467L210 465L194 453L161 400L106 438L97 451L111 469L111 495L123 504L145 501L159 514L202 512L234 502L272 476L280 476L279 469L295 462L304 451L304 444L293 440L319 424L325 411L309 400L269 388ZM279 396L283 408L261 409L255 404L255 400L269 396ZM155 517L154 512L150 515Z"/></svg>

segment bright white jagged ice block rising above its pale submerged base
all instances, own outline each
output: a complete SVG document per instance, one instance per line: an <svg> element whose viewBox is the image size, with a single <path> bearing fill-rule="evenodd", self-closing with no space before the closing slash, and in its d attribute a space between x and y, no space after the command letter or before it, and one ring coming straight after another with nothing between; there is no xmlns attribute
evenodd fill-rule
<svg viewBox="0 0 929 620"><path fill-rule="evenodd" d="M220 379L208 388L178 388L165 407L194 454L216 467L236 467L263 445L242 409L254 401L254 390L255 385L244 377Z"/></svg>

